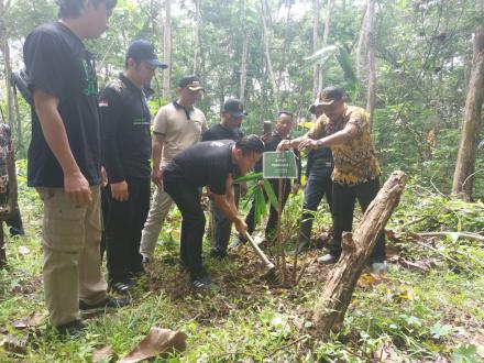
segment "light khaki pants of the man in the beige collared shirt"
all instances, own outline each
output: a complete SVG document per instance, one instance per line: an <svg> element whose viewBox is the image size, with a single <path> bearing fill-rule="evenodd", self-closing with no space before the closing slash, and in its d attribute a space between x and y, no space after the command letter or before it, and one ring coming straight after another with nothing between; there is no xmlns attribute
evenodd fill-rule
<svg viewBox="0 0 484 363"><path fill-rule="evenodd" d="M140 253L144 257L153 257L156 242L162 231L163 222L169 212L169 208L173 206L173 200L166 191L155 188L153 194L153 200L150 207L150 212L144 223L143 231L141 232L141 246Z"/></svg>

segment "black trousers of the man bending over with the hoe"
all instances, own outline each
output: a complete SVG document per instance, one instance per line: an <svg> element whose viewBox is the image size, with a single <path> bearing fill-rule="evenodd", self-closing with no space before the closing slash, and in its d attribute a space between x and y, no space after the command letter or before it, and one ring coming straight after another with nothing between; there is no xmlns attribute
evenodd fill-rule
<svg viewBox="0 0 484 363"><path fill-rule="evenodd" d="M205 215L200 206L200 190L168 172L163 175L163 187L182 212L180 260L188 266L194 279L204 274Z"/></svg>

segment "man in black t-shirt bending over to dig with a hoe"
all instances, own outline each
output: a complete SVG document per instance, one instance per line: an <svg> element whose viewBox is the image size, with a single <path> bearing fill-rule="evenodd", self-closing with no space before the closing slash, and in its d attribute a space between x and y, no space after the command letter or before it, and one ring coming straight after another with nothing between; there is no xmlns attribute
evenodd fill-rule
<svg viewBox="0 0 484 363"><path fill-rule="evenodd" d="M249 135L238 141L209 141L179 153L165 167L163 186L182 212L180 263L190 272L195 288L210 288L210 277L204 270L201 245L205 216L200 207L200 188L208 187L210 199L240 233L248 227L235 206L232 176L245 175L262 157L264 143Z"/></svg>

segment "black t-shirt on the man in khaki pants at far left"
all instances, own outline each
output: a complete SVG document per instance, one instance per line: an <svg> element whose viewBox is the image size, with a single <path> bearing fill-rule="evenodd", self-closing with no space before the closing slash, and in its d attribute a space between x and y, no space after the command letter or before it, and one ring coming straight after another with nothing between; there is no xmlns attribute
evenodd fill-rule
<svg viewBox="0 0 484 363"><path fill-rule="evenodd" d="M58 111L70 151L89 185L100 183L98 85L92 55L59 22L38 26L25 40L23 57L32 91L42 89L59 100ZM64 187L64 174L48 147L35 109L28 179L32 187Z"/></svg>

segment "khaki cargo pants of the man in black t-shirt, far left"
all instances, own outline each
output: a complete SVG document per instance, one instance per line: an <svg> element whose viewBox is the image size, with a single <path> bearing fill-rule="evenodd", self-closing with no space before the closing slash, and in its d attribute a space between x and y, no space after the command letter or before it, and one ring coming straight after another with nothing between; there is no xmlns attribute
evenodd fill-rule
<svg viewBox="0 0 484 363"><path fill-rule="evenodd" d="M101 276L101 201L99 186L92 202L75 206L63 188L37 188L44 202L44 294L51 322L79 319L79 300L94 305L107 298Z"/></svg>

